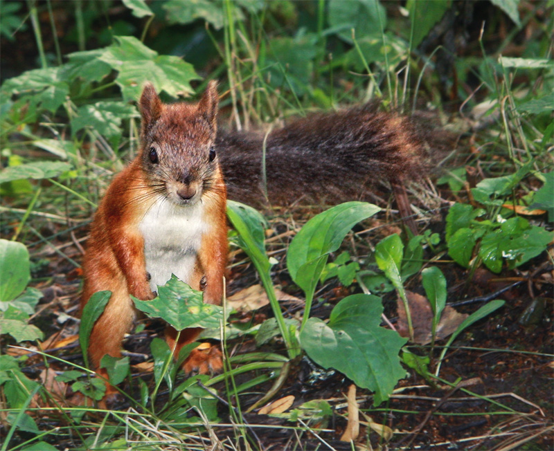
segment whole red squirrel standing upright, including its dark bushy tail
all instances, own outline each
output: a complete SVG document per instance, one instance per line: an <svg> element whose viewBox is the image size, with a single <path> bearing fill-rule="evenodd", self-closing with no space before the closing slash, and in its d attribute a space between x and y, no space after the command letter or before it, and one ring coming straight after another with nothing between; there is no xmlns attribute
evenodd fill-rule
<svg viewBox="0 0 554 451"><path fill-rule="evenodd" d="M109 185L93 219L84 257L81 308L100 290L112 292L90 337L89 356L120 356L135 317L129 295L150 300L172 273L219 304L227 256L226 190L251 204L363 198L370 185L390 181L401 213L410 214L403 181L427 174L425 127L371 107L308 116L272 131L217 131L217 88L210 82L197 104L162 104L147 84L139 155ZM266 177L262 176L265 147ZM263 186L263 180L267 185ZM225 181L225 183L224 183ZM267 198L266 198L267 193ZM411 226L414 227L415 223ZM181 333L181 347L198 329ZM166 338L175 344L175 329ZM190 371L220 369L217 351L193 353ZM102 373L100 373L102 374Z"/></svg>

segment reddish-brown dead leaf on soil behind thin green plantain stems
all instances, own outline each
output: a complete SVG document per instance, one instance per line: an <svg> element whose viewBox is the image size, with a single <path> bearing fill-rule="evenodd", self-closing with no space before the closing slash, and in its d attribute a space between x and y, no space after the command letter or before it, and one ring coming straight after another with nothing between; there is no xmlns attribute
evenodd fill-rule
<svg viewBox="0 0 554 451"><path fill-rule="evenodd" d="M410 306L411 322L413 325L413 341L418 344L427 344L431 342L431 326L433 324L433 311L427 297L406 291L406 298ZM397 331L402 337L408 337L408 322L406 321L406 311L404 303L401 300L397 302L398 323ZM458 313L451 306L445 306L440 321L436 328L436 340L443 340L452 335L458 326L467 318L467 314Z"/></svg>

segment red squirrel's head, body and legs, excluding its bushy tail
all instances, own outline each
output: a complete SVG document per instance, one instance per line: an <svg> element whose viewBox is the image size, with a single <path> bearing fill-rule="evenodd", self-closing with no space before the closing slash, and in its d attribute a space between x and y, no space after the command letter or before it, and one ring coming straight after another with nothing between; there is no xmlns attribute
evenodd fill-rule
<svg viewBox="0 0 554 451"><path fill-rule="evenodd" d="M95 369L106 354L121 355L136 314L129 295L151 300L173 273L196 290L205 280L204 302L222 301L228 243L226 189L214 147L218 100L215 82L198 104L166 105L152 84L143 90L141 149L109 185L84 255L81 309L96 291L111 291L89 338ZM181 332L176 356L199 331ZM170 349L176 334L167 327ZM220 353L214 348L209 354L193 351L184 369L206 372L208 363L219 370Z"/></svg>

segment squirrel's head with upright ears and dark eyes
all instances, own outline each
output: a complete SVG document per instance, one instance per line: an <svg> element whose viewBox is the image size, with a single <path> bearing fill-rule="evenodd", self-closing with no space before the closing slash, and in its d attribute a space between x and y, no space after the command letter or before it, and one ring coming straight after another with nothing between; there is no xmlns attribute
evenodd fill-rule
<svg viewBox="0 0 554 451"><path fill-rule="evenodd" d="M197 104L163 104L146 84L139 102L141 161L150 186L179 205L193 205L216 190L217 83L211 81Z"/></svg>

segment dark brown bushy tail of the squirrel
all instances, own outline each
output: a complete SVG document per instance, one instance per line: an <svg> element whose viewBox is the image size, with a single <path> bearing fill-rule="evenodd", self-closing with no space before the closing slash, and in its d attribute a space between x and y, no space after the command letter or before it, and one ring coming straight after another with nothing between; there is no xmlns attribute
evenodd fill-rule
<svg viewBox="0 0 554 451"><path fill-rule="evenodd" d="M429 128L396 113L358 107L309 116L266 142L267 201L337 203L364 199L379 181L404 183L430 170ZM264 203L263 135L222 131L217 149L229 198Z"/></svg>

